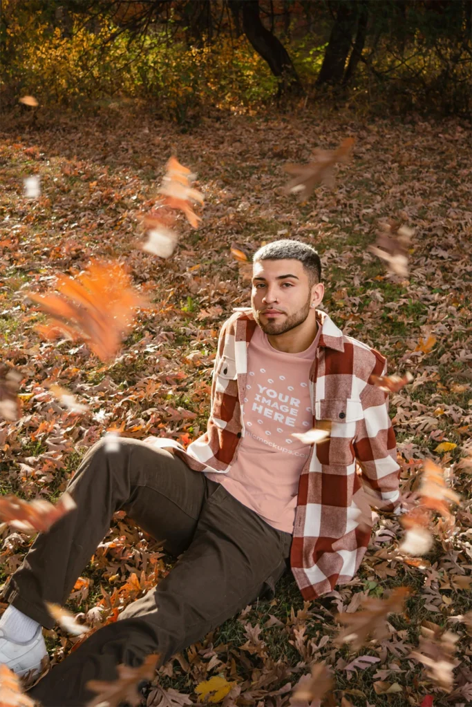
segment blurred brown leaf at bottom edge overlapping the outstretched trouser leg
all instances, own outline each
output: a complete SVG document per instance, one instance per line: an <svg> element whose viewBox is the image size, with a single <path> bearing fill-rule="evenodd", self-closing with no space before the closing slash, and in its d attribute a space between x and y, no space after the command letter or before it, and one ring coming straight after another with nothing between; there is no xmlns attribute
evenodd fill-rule
<svg viewBox="0 0 472 707"><path fill-rule="evenodd" d="M137 707L142 702L142 694L137 686L142 680L153 679L159 654L148 655L139 667L118 665L116 680L88 680L86 688L96 692L97 696L89 701L86 707L118 707L121 703L129 703Z"/></svg>

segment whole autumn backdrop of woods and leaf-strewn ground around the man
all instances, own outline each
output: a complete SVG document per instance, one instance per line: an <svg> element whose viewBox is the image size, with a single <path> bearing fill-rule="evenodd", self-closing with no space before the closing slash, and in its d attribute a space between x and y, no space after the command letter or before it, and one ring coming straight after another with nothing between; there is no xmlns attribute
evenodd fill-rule
<svg viewBox="0 0 472 707"><path fill-rule="evenodd" d="M309 605L287 573L274 600L163 667L149 706L206 695L316 707L293 689L319 662L335 679L330 705L472 701L471 16L466 0L0 2L0 402L18 404L0 418L1 493L56 501L106 433L199 436L219 327L249 303L241 257L293 237L320 252L336 324L385 354L389 373L413 375L391 395L403 493L430 459L461 496L452 527L435 518L424 556L399 551L404 529L383 516L350 585ZM346 137L333 188L284 193L287 161ZM176 217L163 258L142 243L173 154L205 205L193 207L198 228ZM389 219L413 230L403 275L369 250ZM28 298L94 258L122 264L147 300L111 360L81 337L45 340ZM100 283L95 295L105 309ZM32 537L7 523L0 533L6 583ZM67 607L97 629L172 563L118 513ZM401 586L412 593L388 636L337 645L338 612ZM46 633L53 665L81 640ZM449 682L411 657L419 644Z"/></svg>

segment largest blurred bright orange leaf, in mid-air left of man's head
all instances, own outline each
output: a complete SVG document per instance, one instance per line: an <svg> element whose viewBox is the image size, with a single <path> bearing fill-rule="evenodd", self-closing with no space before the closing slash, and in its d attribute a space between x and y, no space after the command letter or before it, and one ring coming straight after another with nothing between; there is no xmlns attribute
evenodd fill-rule
<svg viewBox="0 0 472 707"><path fill-rule="evenodd" d="M62 296L28 293L52 320L38 325L38 332L47 339L60 335L84 339L103 361L117 354L134 319L133 310L146 304L116 261L93 261L75 280L59 276L57 290Z"/></svg>

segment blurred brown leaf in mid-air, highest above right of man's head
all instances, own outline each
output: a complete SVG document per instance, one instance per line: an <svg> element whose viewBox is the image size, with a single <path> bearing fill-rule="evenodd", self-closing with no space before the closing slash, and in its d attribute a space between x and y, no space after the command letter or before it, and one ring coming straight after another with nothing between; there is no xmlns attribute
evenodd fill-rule
<svg viewBox="0 0 472 707"><path fill-rule="evenodd" d="M313 160L307 165L287 163L284 170L294 178L284 187L285 194L299 194L301 201L308 199L317 184L334 186L334 167L347 162L355 139L347 137L336 150L313 150Z"/></svg>

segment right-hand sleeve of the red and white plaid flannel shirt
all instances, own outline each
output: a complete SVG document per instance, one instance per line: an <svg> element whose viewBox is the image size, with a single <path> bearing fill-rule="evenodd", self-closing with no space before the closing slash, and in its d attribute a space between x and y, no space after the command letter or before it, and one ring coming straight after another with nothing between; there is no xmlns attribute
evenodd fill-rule
<svg viewBox="0 0 472 707"><path fill-rule="evenodd" d="M377 359L372 373L380 375L380 366L381 360ZM381 375L386 375L386 363ZM396 460L395 432L388 416L388 395L367 382L361 401L364 419L359 421L354 450L362 484L372 506L396 511L400 503L400 466Z"/></svg>

